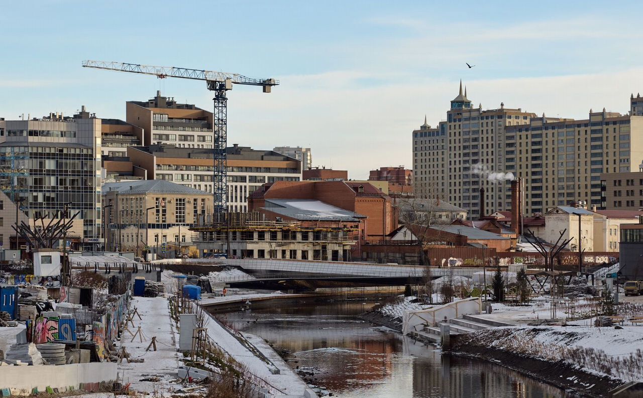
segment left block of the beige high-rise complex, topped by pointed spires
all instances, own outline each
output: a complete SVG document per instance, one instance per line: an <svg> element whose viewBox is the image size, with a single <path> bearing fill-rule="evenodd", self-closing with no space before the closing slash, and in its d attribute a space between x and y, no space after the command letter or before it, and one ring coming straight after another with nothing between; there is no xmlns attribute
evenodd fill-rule
<svg viewBox="0 0 643 398"><path fill-rule="evenodd" d="M505 171L507 126L526 125L535 114L520 108L473 108L466 89L451 101L447 120L413 130L413 185L419 198L441 198L480 216L480 188L487 212L505 209L511 196Z"/></svg>

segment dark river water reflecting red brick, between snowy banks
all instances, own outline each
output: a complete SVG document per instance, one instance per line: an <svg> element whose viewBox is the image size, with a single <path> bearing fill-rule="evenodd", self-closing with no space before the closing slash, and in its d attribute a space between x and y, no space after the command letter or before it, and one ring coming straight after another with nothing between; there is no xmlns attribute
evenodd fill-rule
<svg viewBox="0 0 643 398"><path fill-rule="evenodd" d="M240 331L258 334L305 379L340 398L554 398L565 394L529 377L471 359L441 356L355 315L374 303L284 304L218 314Z"/></svg>

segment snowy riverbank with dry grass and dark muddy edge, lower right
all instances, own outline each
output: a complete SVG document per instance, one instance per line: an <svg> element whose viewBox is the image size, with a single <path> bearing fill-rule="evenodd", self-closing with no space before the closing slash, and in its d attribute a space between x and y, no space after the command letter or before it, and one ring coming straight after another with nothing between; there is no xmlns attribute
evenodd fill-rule
<svg viewBox="0 0 643 398"><path fill-rule="evenodd" d="M498 327L458 336L452 352L601 396L643 377L642 341L638 326Z"/></svg>

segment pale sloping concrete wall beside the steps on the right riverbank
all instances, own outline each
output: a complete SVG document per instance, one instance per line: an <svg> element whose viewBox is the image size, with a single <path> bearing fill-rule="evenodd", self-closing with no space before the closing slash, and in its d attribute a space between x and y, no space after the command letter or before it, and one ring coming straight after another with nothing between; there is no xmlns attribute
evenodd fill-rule
<svg viewBox="0 0 643 398"><path fill-rule="evenodd" d="M462 315L477 314L482 312L480 297L460 300L444 304L444 306L424 309L422 311L407 311L404 313L402 334L421 331L424 325L435 326L446 318L454 319Z"/></svg>

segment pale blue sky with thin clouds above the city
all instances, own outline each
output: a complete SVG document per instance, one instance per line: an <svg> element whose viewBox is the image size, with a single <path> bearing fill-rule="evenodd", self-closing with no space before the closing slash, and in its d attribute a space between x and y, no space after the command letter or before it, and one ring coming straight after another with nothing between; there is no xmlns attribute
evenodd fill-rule
<svg viewBox="0 0 643 398"><path fill-rule="evenodd" d="M516 3L516 4L512 4ZM228 144L312 148L314 166L368 177L412 168L412 130L446 118L460 79L483 108L586 118L643 91L637 1L68 1L0 5L0 117L125 118L161 90L212 110L199 81L82 68L83 60L275 78L228 95ZM468 62L475 67L469 69Z"/></svg>

